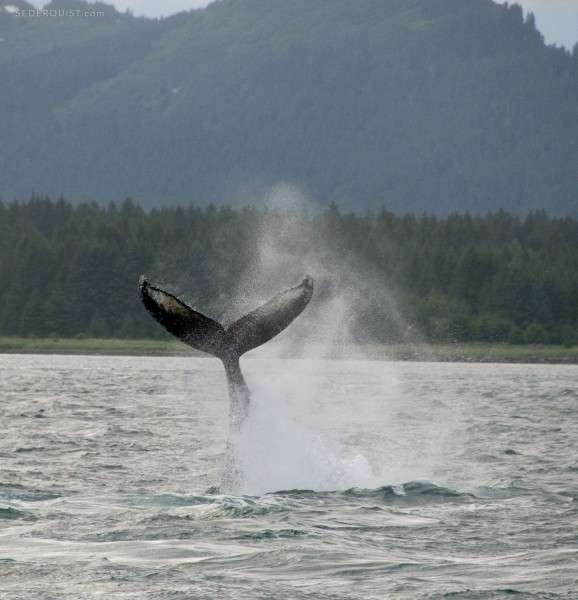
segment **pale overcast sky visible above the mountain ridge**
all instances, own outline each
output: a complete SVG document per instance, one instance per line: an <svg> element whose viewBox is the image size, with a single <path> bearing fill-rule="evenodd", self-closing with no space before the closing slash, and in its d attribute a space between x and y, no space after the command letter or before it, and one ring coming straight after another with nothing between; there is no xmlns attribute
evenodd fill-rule
<svg viewBox="0 0 578 600"><path fill-rule="evenodd" d="M119 10L130 8L135 15L158 17L181 10L200 8L210 0L105 0ZM290 0L288 0L290 1ZM355 1L355 0L353 0ZM510 2L513 4L513 2ZM38 2L45 4L45 2ZM538 27L548 43L572 48L578 42L578 0L518 0L536 15Z"/></svg>

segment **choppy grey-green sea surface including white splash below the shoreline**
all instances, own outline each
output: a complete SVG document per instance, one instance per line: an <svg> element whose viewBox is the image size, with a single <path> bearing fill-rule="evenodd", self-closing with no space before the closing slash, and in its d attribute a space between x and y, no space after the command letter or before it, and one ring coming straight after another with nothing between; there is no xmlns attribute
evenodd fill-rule
<svg viewBox="0 0 578 600"><path fill-rule="evenodd" d="M0 356L0 598L578 598L578 368Z"/></svg>

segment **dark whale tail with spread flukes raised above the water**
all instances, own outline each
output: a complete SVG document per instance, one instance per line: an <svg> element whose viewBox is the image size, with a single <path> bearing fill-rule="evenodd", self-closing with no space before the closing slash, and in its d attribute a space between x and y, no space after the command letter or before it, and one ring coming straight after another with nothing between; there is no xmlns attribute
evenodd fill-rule
<svg viewBox="0 0 578 600"><path fill-rule="evenodd" d="M231 398L231 425L237 429L250 401L240 356L281 333L303 312L313 295L313 279L305 277L298 286L277 294L227 328L151 285L144 275L139 290L145 308L167 331L223 361Z"/></svg>

